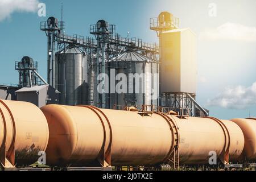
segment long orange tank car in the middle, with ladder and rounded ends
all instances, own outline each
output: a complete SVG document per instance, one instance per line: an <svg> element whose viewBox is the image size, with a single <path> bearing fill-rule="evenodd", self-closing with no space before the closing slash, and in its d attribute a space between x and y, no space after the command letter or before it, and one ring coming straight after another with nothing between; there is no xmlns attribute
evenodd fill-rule
<svg viewBox="0 0 256 182"><path fill-rule="evenodd" d="M111 151L112 166L166 163L172 158L176 142L170 121L179 129L181 164L208 164L210 152L216 152L222 162L236 162L244 146L240 127L216 118L143 116L92 106L48 105L42 111L49 125L49 165L88 166L100 159L103 148L105 152Z"/></svg>

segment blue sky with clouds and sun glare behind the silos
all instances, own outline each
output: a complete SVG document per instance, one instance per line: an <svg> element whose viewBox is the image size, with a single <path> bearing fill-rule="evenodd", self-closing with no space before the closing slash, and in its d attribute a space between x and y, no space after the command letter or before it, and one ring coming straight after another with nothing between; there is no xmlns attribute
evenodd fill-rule
<svg viewBox="0 0 256 182"><path fill-rule="evenodd" d="M39 62L39 73L46 78L47 39L40 22L48 16L60 18L61 2L69 35L90 36L89 25L105 19L117 25L119 34L126 36L129 31L130 37L151 43L158 38L149 30L149 19L170 11L180 18L180 27L197 34L197 101L214 117L245 118L249 112L256 116L254 0L41 0L46 3L46 17L39 17L34 9L37 0L8 1L13 3L5 7L0 0L0 83L18 82L14 61L25 55ZM210 3L216 5L214 17L209 16Z"/></svg>

